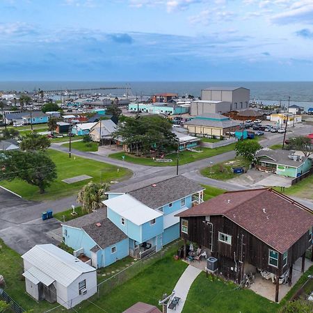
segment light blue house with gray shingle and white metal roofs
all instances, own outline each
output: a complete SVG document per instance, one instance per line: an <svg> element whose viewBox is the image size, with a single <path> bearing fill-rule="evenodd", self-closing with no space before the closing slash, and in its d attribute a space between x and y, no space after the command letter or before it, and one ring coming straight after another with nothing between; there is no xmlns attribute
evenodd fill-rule
<svg viewBox="0 0 313 313"><path fill-rule="evenodd" d="M95 267L127 255L138 259L179 238L176 214L203 202L204 188L183 176L148 179L115 189L104 209L63 224L63 242Z"/></svg>

